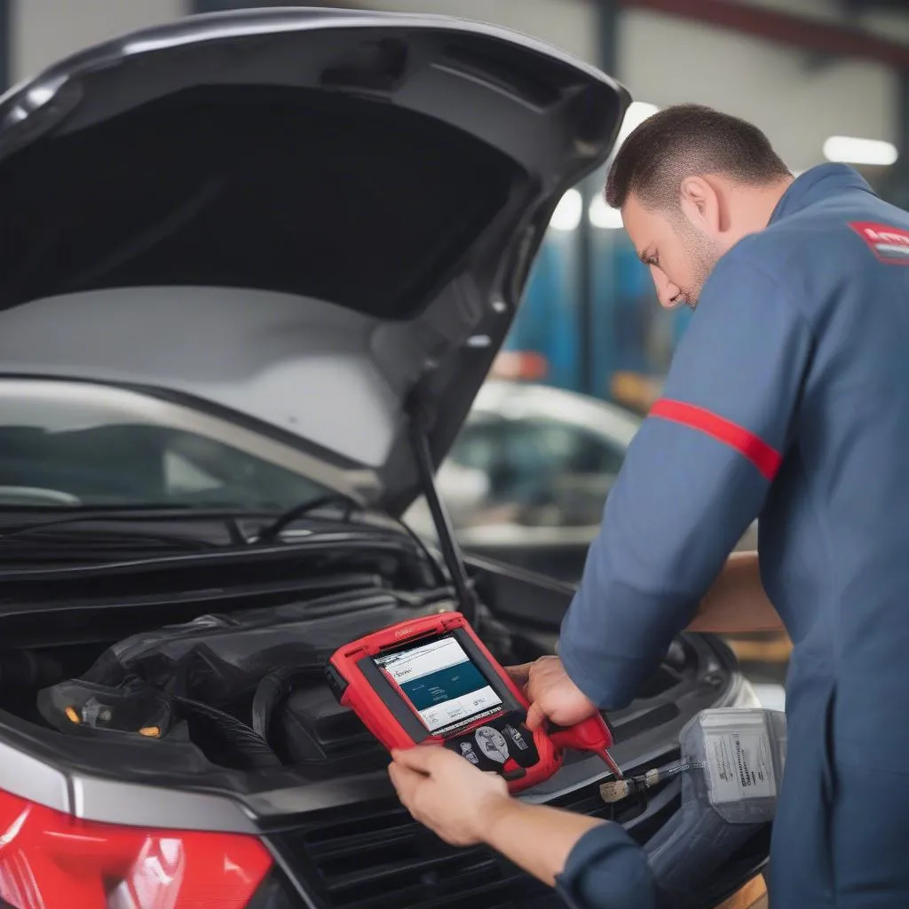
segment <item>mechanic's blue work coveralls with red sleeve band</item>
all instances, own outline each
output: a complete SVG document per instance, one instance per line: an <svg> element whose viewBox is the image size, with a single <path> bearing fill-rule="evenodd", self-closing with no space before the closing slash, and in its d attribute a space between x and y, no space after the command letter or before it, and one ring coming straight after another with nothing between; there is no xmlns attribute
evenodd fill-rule
<svg viewBox="0 0 909 909"><path fill-rule="evenodd" d="M758 516L794 642L771 904L909 907L909 214L844 165L796 179L704 285L564 619L584 694L633 698ZM604 827L559 886L612 907L640 872Z"/></svg>

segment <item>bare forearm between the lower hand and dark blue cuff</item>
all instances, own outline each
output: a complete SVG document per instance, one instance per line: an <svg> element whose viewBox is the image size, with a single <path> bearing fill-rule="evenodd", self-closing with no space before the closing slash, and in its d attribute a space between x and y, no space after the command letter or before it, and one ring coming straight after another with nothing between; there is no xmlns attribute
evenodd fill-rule
<svg viewBox="0 0 909 909"><path fill-rule="evenodd" d="M581 837L604 823L584 814L508 798L494 805L484 825L484 838L496 852L552 886Z"/></svg>

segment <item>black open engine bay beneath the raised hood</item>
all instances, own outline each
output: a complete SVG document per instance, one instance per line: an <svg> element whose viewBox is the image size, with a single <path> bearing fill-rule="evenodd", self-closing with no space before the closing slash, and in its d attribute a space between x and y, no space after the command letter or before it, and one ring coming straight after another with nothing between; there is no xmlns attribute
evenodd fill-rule
<svg viewBox="0 0 909 909"><path fill-rule="evenodd" d="M477 559L454 584L451 567L401 528L303 526L294 542L229 558L65 565L8 581L4 736L55 766L117 781L285 791L387 764L325 681L338 646L425 614L466 614L467 595L471 624L500 664L554 652L570 586ZM676 642L638 701L610 714L617 754L634 761L674 747L677 727L734 684L713 644ZM593 761L567 755L541 795L602 774Z"/></svg>

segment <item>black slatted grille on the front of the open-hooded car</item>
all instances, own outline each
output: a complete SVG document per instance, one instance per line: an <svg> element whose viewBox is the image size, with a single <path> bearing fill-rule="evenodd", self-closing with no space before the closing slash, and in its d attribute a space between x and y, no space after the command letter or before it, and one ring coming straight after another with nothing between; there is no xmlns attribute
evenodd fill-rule
<svg viewBox="0 0 909 909"><path fill-rule="evenodd" d="M644 768L641 768L644 769ZM668 797L667 797L668 795ZM597 784L552 804L631 824L646 839L678 806L677 794L655 790L608 806ZM653 808L657 807L654 812ZM301 879L318 909L557 909L554 892L485 847L457 849L416 824L399 804L358 805L314 815L305 826L274 834L273 847L290 874Z"/></svg>

